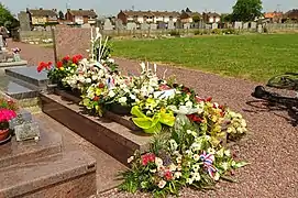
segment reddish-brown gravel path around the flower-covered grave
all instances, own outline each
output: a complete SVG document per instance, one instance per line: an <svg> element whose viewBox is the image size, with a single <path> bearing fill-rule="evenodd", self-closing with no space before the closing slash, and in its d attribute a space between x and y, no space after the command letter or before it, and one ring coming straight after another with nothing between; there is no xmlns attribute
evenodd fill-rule
<svg viewBox="0 0 298 198"><path fill-rule="evenodd" d="M40 61L53 59L51 48L22 43L10 45L22 48L22 57L30 64L36 65ZM120 58L117 58L117 62L123 73L136 73L139 69L136 62ZM161 76L165 68L168 69L166 76L176 75L177 81L196 88L200 96L212 96L216 101L227 103L241 112L252 133L247 141L233 147L239 158L251 163L236 172L235 178L239 183L219 183L218 190L207 193L185 189L181 197L298 197L298 128L288 122L289 117L286 112L268 111L260 102L256 102L258 107L246 105L247 101L255 101L251 97L256 86L254 82L168 66L158 67ZM112 190L99 197L147 196L132 196Z"/></svg>

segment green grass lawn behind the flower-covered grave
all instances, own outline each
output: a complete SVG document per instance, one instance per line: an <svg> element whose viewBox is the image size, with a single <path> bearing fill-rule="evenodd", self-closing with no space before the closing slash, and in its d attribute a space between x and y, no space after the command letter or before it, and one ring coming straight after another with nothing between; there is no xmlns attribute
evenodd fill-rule
<svg viewBox="0 0 298 198"><path fill-rule="evenodd" d="M298 73L298 34L113 41L113 55L266 81Z"/></svg>

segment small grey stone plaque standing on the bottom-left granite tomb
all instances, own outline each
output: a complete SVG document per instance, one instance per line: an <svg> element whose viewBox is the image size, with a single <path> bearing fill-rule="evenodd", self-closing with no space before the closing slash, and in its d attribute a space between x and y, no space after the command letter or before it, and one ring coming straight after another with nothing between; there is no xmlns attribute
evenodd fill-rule
<svg viewBox="0 0 298 198"><path fill-rule="evenodd" d="M14 128L15 139L18 142L26 140L40 140L41 132L37 122L24 122Z"/></svg>

